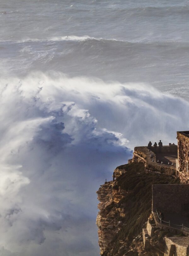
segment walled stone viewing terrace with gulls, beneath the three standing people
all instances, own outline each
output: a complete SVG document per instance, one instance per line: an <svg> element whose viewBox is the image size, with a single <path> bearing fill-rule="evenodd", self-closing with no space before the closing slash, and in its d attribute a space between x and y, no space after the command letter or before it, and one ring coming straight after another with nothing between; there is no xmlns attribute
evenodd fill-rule
<svg viewBox="0 0 189 256"><path fill-rule="evenodd" d="M163 146L161 153L158 147L135 147L132 162L143 162L146 171L159 174L176 175L177 145Z"/></svg>

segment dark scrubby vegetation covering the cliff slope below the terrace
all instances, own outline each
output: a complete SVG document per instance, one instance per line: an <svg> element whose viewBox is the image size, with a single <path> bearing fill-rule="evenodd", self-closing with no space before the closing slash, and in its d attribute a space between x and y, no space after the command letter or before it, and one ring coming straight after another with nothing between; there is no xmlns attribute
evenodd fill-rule
<svg viewBox="0 0 189 256"><path fill-rule="evenodd" d="M131 255L128 254L129 247L133 239L137 235L140 236L142 227L151 214L152 185L179 183L178 179L171 176L146 173L143 163L134 162L122 165L117 167L116 170L124 171L116 181L111 183L112 194L116 197L118 193L122 197L120 197L120 200L112 200L107 203L106 207L100 212L103 216L106 214L107 219L114 216L114 222L116 218L117 223L122 224L113 239L109 241L106 250L103 251L103 256ZM125 246L123 241L127 241L124 244Z"/></svg>

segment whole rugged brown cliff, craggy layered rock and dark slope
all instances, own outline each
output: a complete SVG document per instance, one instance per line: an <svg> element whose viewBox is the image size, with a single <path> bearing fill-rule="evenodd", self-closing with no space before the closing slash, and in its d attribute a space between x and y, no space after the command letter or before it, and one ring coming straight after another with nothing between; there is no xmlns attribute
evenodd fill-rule
<svg viewBox="0 0 189 256"><path fill-rule="evenodd" d="M100 186L97 216L100 254L103 256L163 255L143 247L142 227L151 214L152 184L178 183L169 176L146 173L143 163L130 163L115 169L116 180ZM157 235L158 236L158 235Z"/></svg>

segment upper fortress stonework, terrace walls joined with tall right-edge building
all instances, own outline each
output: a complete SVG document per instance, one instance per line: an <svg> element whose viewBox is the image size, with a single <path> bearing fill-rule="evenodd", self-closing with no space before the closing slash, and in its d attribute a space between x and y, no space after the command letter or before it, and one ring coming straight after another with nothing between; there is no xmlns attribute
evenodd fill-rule
<svg viewBox="0 0 189 256"><path fill-rule="evenodd" d="M132 162L143 162L146 171L179 177L180 183L189 184L189 131L177 131L177 140L178 147L163 146L161 154L175 157L174 161L172 160L173 165L168 165L166 157L163 163L161 160L158 162L158 148L153 147L150 151L147 147L135 147Z"/></svg>

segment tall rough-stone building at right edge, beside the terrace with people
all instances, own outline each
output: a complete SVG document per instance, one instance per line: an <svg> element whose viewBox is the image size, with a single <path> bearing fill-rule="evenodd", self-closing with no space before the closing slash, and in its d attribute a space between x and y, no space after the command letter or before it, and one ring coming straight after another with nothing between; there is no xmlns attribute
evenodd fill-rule
<svg viewBox="0 0 189 256"><path fill-rule="evenodd" d="M189 131L177 131L178 160L177 175L182 183L189 183Z"/></svg>

